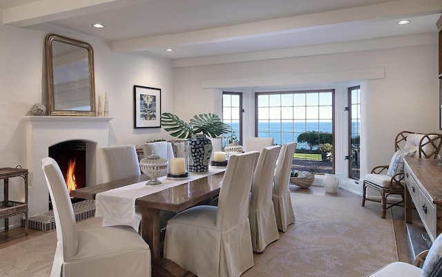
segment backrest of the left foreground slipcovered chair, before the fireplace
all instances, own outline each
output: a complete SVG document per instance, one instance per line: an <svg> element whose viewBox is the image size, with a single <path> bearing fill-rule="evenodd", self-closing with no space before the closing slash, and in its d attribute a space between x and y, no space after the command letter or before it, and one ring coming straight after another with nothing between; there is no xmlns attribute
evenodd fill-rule
<svg viewBox="0 0 442 277"><path fill-rule="evenodd" d="M57 227L57 251L62 257L61 262L69 260L77 255L78 235L75 224L74 210L68 193L68 187L61 173L60 167L52 157L45 157L43 169L46 183L48 184L49 195L54 209L55 225Z"/></svg>

